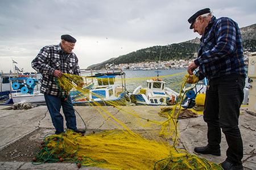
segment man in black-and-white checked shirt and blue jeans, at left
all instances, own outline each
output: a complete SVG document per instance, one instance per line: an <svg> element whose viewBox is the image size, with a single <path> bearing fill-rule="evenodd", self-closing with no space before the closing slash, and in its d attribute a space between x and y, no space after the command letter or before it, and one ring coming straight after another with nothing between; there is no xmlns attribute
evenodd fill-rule
<svg viewBox="0 0 256 170"><path fill-rule="evenodd" d="M38 56L31 62L32 67L42 74L40 91L44 94L55 134L63 133L63 116L60 114L62 107L68 129L77 133L85 133L78 130L76 126L76 114L70 96L59 90L55 79L60 78L63 73L80 75L78 58L72 52L76 39L70 35L62 35L58 45L44 46Z"/></svg>

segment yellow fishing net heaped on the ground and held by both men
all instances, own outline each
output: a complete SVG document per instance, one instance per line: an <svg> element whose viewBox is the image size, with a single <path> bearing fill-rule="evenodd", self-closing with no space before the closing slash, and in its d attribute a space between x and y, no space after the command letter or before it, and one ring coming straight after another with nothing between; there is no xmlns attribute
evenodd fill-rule
<svg viewBox="0 0 256 170"><path fill-rule="evenodd" d="M65 74L56 82L63 92L63 87L69 90L73 88L79 91L81 96L89 97L89 90L77 86L79 83L73 83L80 78ZM166 79L167 76L162 78ZM93 78L90 79L93 81ZM48 134L35 152L32 164L65 160L75 162L77 167L93 166L108 169L222 169L216 163L189 154L178 145L178 116L185 94L183 89L186 79L187 76L183 76L178 82L174 80L174 83L180 84L177 86L180 88L180 99L171 106L172 111L164 118L152 109L146 116L138 113L138 109L133 109L133 106L124 107L125 104L121 105L114 101L105 101L113 107L101 107L98 103L91 103L90 105L105 118L109 126L115 125L116 129L95 130L86 134L67 129L59 135ZM89 83L87 81L86 83ZM139 79L126 79L130 84L138 81ZM142 109L144 108L142 106ZM119 110L119 116L112 114L113 109ZM79 116L82 118L81 114Z"/></svg>

